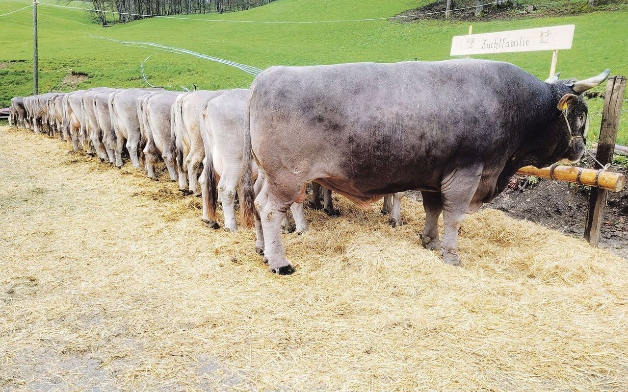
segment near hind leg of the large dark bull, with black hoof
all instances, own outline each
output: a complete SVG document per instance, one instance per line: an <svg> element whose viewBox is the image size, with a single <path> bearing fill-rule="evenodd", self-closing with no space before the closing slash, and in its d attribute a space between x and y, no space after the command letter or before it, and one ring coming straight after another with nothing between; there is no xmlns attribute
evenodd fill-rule
<svg viewBox="0 0 628 392"><path fill-rule="evenodd" d="M259 219L264 233L264 261L268 262L271 272L290 275L295 272L281 243L281 221L294 203L303 184L298 188L286 184L278 186L264 181L261 191L255 199Z"/></svg>

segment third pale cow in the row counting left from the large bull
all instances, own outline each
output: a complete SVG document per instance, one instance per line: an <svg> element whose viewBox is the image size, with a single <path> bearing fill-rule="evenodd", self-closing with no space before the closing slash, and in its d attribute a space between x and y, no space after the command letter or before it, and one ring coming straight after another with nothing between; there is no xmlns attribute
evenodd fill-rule
<svg viewBox="0 0 628 392"><path fill-rule="evenodd" d="M170 181L176 181L175 157L172 152L171 117L173 104L181 93L158 92L138 97L140 130L145 140L144 157L150 179L157 180L154 166L161 157L168 168Z"/></svg>

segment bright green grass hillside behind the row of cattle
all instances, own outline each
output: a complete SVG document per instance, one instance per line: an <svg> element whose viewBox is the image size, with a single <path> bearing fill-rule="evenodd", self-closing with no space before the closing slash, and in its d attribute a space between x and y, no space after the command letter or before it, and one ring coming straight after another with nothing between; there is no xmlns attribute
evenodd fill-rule
<svg viewBox="0 0 628 392"><path fill-rule="evenodd" d="M377 18L427 3L430 0L279 0L239 13L189 17L249 21ZM26 0L3 0L0 14L28 4L30 1ZM87 3L72 4L83 7ZM100 85L146 86L140 64L156 53L154 48L124 46L90 35L160 43L266 68L414 58L443 60L450 58L452 36L465 34L468 29L468 23L462 21L254 24L157 18L102 28L93 24L84 11L44 5L38 11L40 91ZM563 77L590 77L605 68L610 68L613 75L628 75L627 20L628 11L599 11L561 18L474 23L474 33L573 23L573 48L558 55L558 71ZM31 9L0 17L0 35L0 106L6 107L14 95L28 95L32 90ZM509 61L544 79L548 76L551 53L509 53L492 55L490 59ZM13 60L25 61L9 63ZM192 84L203 89L247 87L252 81L251 75L236 68L173 53L161 52L146 61L144 67L151 83L171 86L171 90L192 88ZM86 73L90 78L78 85L64 85L63 79L72 71ZM589 102L590 133L591 139L595 139L603 100ZM624 105L619 142L628 144L628 104Z"/></svg>

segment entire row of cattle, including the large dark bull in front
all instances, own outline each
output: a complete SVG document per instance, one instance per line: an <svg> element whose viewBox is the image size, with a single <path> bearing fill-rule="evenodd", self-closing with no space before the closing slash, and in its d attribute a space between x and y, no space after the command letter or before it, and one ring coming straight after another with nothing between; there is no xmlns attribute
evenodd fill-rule
<svg viewBox="0 0 628 392"><path fill-rule="evenodd" d="M328 213L331 191L364 208L386 196L393 225L401 223L403 192L421 191L423 246L458 264L465 213L491 201L519 167L582 159L582 93L608 75L543 82L484 60L277 66L247 90L92 88L18 97L11 117L119 167L126 147L153 179L163 159L182 191L202 196L207 225L217 227L220 201L225 228L236 230L237 194L242 223L255 225L255 248L273 272L294 272L281 232L288 209L296 229L306 230L308 183L315 204L320 186L326 189Z"/></svg>

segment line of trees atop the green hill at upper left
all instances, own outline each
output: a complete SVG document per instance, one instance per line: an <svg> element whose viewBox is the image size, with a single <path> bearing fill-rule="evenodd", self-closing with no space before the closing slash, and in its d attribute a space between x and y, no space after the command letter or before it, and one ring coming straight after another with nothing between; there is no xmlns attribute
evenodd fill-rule
<svg viewBox="0 0 628 392"><path fill-rule="evenodd" d="M139 15L222 14L244 11L272 1L274 0L90 0L90 3L96 10L92 12L94 18L106 26L146 18Z"/></svg>

